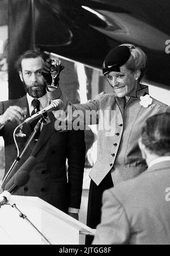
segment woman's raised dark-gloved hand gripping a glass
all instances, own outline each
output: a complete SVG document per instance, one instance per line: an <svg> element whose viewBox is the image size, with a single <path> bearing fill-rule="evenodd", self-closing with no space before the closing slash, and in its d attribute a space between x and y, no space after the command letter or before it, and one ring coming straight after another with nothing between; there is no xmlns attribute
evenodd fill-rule
<svg viewBox="0 0 170 256"><path fill-rule="evenodd" d="M42 68L42 75L46 81L46 85L47 86L51 86L52 85L52 75L50 74L50 70L52 69L52 64L51 64L52 60L50 60L50 58L48 58L45 63L44 66ZM59 82L59 74L60 72L64 69L64 66L59 66L59 72L57 74L57 77L55 78L54 81L54 86L58 87L58 82Z"/></svg>

